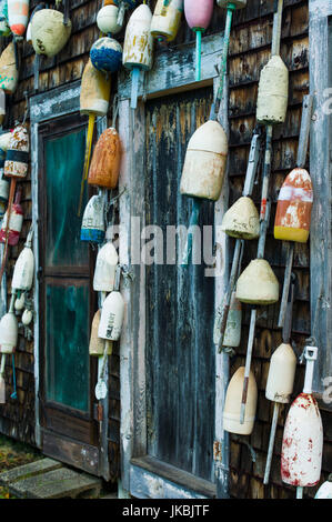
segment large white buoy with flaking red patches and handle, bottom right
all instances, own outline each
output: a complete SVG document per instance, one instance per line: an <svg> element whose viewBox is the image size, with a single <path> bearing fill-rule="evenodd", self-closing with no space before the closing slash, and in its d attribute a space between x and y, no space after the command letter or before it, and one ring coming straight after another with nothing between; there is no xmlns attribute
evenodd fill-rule
<svg viewBox="0 0 332 522"><path fill-rule="evenodd" d="M281 478L298 488L302 499L303 488L316 485L321 476L323 426L320 410L312 395L315 347L305 347L306 371L303 392L292 403L282 440Z"/></svg>

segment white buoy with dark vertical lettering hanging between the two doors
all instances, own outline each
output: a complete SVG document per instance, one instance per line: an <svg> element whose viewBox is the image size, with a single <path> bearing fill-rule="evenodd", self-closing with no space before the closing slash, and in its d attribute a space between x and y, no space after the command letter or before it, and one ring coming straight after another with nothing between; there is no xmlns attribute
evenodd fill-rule
<svg viewBox="0 0 332 522"><path fill-rule="evenodd" d="M124 301L120 292L111 292L103 302L98 335L108 341L118 341L124 317Z"/></svg>

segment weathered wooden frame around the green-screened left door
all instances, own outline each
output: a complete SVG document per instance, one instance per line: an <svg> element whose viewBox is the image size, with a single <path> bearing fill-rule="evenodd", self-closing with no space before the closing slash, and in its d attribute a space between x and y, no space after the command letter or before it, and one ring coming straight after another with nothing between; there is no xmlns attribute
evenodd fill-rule
<svg viewBox="0 0 332 522"><path fill-rule="evenodd" d="M33 330L33 355L34 355L34 413L36 413L36 428L34 436L37 446L42 449L42 426L40 419L40 392L41 392L41 379L42 368L40 358L40 332L41 332L41 320L39 314L40 307L40 283L39 283L39 267L40 267L40 252L39 252L39 158L40 158L40 138L39 129L40 126L47 121L53 121L54 119L70 116L80 111L80 88L81 82L74 81L63 87L59 87L48 92L37 94L30 98L30 132L31 132L31 197L32 197L32 223L34 225L33 234L33 252L36 258L34 263L34 330ZM99 137L107 128L107 117L97 119L97 137ZM105 371L105 381L108 382L108 372ZM109 461L108 461L108 396L102 401L102 434L100 445L98 449L98 474L109 480ZM70 445L70 442L69 442ZM95 459L95 452L90 451L87 448L87 459Z"/></svg>

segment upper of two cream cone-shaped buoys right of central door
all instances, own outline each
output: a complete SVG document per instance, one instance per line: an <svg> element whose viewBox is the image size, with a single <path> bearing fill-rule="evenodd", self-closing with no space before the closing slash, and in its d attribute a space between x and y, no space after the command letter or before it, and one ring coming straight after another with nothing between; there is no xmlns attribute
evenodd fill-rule
<svg viewBox="0 0 332 522"><path fill-rule="evenodd" d="M224 214L222 230L231 238L256 239L260 235L260 217L251 198L240 198Z"/></svg>

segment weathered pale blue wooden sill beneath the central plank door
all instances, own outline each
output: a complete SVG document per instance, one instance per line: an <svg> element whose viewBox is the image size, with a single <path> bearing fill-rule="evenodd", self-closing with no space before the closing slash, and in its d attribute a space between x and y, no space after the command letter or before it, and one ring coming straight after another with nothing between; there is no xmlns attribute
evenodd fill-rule
<svg viewBox="0 0 332 522"><path fill-rule="evenodd" d="M217 485L153 456L131 459L130 493L138 499L214 499Z"/></svg>

